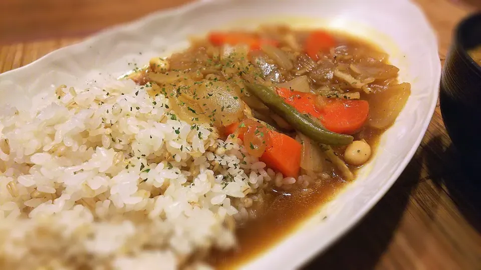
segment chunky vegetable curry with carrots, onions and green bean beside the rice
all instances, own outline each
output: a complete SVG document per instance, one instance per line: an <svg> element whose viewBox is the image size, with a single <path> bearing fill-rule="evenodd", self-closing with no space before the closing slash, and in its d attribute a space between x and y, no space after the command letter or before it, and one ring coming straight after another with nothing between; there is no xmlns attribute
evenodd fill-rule
<svg viewBox="0 0 481 270"><path fill-rule="evenodd" d="M354 178L410 94L368 42L326 30L264 26L210 32L129 75L165 94L182 120L237 136L284 177Z"/></svg>

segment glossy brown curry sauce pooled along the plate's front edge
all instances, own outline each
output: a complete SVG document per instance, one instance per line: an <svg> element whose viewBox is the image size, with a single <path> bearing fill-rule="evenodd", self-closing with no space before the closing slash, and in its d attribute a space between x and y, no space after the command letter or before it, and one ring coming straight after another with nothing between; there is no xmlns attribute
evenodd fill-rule
<svg viewBox="0 0 481 270"><path fill-rule="evenodd" d="M385 129L365 127L355 138L365 139L373 149L371 156L374 156L384 131ZM343 151L338 149L336 152ZM361 167L350 166L355 174ZM226 251L215 250L207 261L215 268L230 269L261 256L293 233L303 221L315 214L324 203L335 198L348 184L341 177L335 176L304 189L273 189L264 197L269 206L263 214L236 228L237 247Z"/></svg>

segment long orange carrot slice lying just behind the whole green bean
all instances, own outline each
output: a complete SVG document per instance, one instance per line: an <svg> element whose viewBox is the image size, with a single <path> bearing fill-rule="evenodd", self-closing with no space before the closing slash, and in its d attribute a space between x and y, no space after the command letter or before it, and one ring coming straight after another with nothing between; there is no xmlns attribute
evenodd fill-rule
<svg viewBox="0 0 481 270"><path fill-rule="evenodd" d="M312 93L277 88L284 101L299 112L318 118L327 129L342 134L356 133L366 122L369 103L366 100L326 98L322 108L316 106Z"/></svg>

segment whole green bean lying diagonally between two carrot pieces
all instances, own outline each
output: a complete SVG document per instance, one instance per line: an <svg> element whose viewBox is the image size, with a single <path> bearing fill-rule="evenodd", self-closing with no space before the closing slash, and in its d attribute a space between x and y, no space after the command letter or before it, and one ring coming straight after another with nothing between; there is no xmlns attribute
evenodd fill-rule
<svg viewBox="0 0 481 270"><path fill-rule="evenodd" d="M354 139L350 135L339 134L324 128L320 123L311 119L309 115L302 114L296 108L284 102L282 97L277 95L269 87L261 84L246 84L248 90L257 96L275 113L291 124L296 130L311 139L329 145L346 145Z"/></svg>

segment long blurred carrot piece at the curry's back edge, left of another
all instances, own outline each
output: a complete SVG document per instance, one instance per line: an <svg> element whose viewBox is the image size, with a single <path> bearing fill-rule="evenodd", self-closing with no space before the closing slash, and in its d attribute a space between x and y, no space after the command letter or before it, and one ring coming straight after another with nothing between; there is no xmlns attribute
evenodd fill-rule
<svg viewBox="0 0 481 270"><path fill-rule="evenodd" d="M251 50L261 49L262 44L270 44L277 46L279 42L274 39L260 38L248 33L235 33L235 32L211 32L208 35L209 41L220 46L223 44L236 45L236 44L247 44Z"/></svg>

